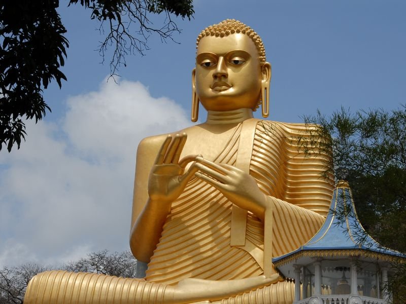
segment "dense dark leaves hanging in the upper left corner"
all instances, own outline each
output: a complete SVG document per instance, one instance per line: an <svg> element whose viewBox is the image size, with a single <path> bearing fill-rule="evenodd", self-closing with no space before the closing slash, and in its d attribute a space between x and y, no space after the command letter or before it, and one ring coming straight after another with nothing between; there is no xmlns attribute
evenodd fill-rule
<svg viewBox="0 0 406 304"><path fill-rule="evenodd" d="M0 150L25 139L23 119L36 122L50 110L42 87L66 80L60 67L69 43L56 12L58 0L5 0L0 10Z"/></svg>

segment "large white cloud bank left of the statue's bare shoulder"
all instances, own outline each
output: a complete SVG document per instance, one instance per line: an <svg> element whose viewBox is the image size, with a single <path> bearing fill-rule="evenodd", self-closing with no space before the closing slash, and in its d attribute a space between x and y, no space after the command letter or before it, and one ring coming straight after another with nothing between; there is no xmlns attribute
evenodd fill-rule
<svg viewBox="0 0 406 304"><path fill-rule="evenodd" d="M0 266L127 249L138 142L190 124L139 82L104 82L67 106L59 124L28 122L21 148L0 154Z"/></svg>

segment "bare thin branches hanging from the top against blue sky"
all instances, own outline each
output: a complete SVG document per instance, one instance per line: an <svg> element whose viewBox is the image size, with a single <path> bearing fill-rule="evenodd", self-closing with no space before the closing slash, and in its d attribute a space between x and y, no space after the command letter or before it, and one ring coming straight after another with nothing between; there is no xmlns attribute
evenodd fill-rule
<svg viewBox="0 0 406 304"><path fill-rule="evenodd" d="M126 66L126 55L144 55L149 49L148 39L157 35L162 42L174 41L173 33L180 33L174 17L190 18L194 14L192 0L70 0L69 5L81 4L92 10L91 19L99 21L99 30L105 36L99 53L105 60L112 50L110 73L114 77L120 65ZM157 25L151 19L164 14ZM110 55L110 54L109 54Z"/></svg>

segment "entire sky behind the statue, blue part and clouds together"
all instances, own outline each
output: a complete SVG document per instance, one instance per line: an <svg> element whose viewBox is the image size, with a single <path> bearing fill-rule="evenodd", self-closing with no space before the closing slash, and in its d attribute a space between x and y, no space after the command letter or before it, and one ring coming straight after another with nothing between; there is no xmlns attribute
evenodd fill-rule
<svg viewBox="0 0 406 304"><path fill-rule="evenodd" d="M401 0L197 0L194 18L177 20L179 44L151 36L145 56L127 56L118 84L106 82L110 67L94 51L103 36L90 10L65 3L68 81L45 91L52 113L27 124L20 150L0 153L0 265L128 248L137 144L191 124L196 36L223 19L262 37L273 72L271 120L406 103Z"/></svg>

